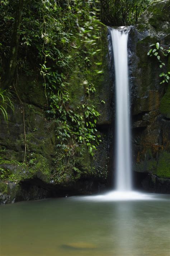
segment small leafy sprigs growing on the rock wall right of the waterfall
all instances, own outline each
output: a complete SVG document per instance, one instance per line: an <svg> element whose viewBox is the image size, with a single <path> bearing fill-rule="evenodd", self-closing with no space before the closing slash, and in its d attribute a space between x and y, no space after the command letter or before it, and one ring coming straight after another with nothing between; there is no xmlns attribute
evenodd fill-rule
<svg viewBox="0 0 170 256"><path fill-rule="evenodd" d="M160 44L157 42L156 44L151 44L150 45L151 49L147 53L148 56L152 57L155 56L157 60L159 61L159 67L162 69L162 67L165 66L165 63L161 61L161 56L169 56L170 54L170 47L169 49L164 49L163 47L160 46ZM162 72L160 73L160 77L163 79L160 84L162 83L168 83L170 79L170 71L167 70L167 72Z"/></svg>

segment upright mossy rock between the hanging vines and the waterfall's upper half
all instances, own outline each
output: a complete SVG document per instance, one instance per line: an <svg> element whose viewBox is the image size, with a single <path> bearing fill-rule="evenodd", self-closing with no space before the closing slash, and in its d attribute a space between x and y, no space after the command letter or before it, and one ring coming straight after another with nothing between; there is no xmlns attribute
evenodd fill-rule
<svg viewBox="0 0 170 256"><path fill-rule="evenodd" d="M94 55L93 58L91 57L88 68L87 65L82 65L85 58L84 55L77 59L67 90L71 96L70 106L76 108L77 106L81 106L87 98L85 79L89 86L93 85L95 92L90 93L88 102L94 105L100 113L97 124L103 125L111 124L112 122L112 108L110 106L113 96L113 80L109 76L108 28L102 23L99 23L99 26L101 27L101 38L97 41L96 48L101 49L101 51L97 55ZM99 62L102 62L102 65L96 66L95 63ZM103 73L100 75L96 74L96 69L103 70Z"/></svg>

